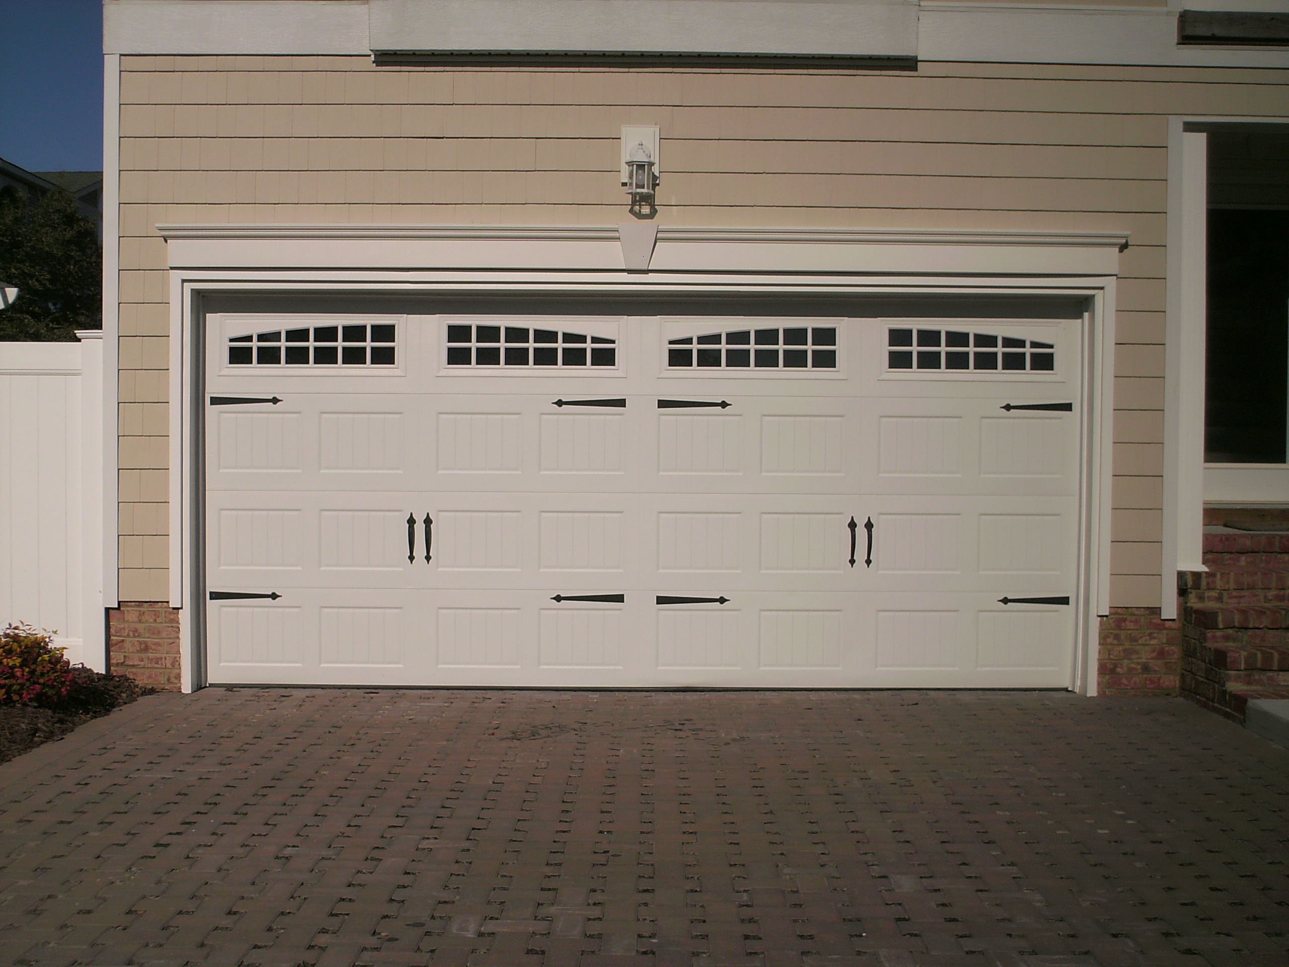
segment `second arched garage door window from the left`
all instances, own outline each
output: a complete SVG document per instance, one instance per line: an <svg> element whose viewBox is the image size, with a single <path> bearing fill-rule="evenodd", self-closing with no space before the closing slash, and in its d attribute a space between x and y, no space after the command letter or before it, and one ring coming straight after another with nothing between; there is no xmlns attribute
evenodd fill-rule
<svg viewBox="0 0 1289 967"><path fill-rule="evenodd" d="M574 330L454 322L447 326L447 365L612 369L617 365L617 340Z"/></svg>

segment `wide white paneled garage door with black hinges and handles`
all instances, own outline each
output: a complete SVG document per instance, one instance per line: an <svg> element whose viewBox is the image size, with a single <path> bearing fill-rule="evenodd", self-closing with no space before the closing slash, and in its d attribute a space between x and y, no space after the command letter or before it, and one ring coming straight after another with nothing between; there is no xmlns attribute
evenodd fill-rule
<svg viewBox="0 0 1289 967"><path fill-rule="evenodd" d="M1070 683L1076 321L208 322L213 683Z"/></svg>

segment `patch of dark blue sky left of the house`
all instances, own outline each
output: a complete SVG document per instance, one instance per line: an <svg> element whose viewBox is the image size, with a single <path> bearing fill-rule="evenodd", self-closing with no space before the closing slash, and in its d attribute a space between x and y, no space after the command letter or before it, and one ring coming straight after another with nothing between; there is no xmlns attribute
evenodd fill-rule
<svg viewBox="0 0 1289 967"><path fill-rule="evenodd" d="M101 0L0 0L0 157L28 171L103 168Z"/></svg>

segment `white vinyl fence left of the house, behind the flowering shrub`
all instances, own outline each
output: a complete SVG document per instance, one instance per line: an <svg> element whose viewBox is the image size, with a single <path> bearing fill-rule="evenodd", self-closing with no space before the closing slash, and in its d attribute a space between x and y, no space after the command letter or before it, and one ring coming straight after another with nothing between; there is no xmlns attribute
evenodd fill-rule
<svg viewBox="0 0 1289 967"><path fill-rule="evenodd" d="M103 334L0 342L0 627L104 670Z"/></svg>

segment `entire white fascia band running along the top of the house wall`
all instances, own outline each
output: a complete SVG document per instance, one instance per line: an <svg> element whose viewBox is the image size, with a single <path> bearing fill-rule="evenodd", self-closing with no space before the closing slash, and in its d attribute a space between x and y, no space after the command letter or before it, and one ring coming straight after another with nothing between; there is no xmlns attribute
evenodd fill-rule
<svg viewBox="0 0 1289 967"><path fill-rule="evenodd" d="M811 17L803 15L807 8ZM853 0L110 0L103 5L103 50L110 54L370 55L409 48L442 54L651 52L1289 67L1289 50L1178 46L1177 12L1159 6Z"/></svg>

